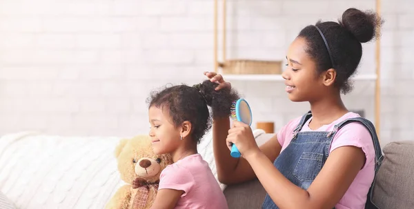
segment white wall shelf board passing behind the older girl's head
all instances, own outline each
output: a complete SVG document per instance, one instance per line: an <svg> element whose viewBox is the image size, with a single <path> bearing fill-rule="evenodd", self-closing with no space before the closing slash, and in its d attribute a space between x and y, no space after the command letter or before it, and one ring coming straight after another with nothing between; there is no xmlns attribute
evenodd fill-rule
<svg viewBox="0 0 414 209"><path fill-rule="evenodd" d="M284 81L281 74L222 74L228 81ZM375 81L377 74L359 74L351 79L355 81Z"/></svg>

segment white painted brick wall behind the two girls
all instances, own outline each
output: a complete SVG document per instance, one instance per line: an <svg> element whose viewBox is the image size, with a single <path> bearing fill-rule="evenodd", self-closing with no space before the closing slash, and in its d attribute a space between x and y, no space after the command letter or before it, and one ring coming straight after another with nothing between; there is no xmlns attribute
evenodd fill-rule
<svg viewBox="0 0 414 209"><path fill-rule="evenodd" d="M413 2L382 2L384 142L413 139ZM228 1L227 56L284 59L302 27L348 7L374 9L375 1ZM359 74L375 72L375 43L364 53ZM0 135L147 132L150 90L199 82L206 70L213 70L213 1L0 1ZM250 101L255 122L275 121L277 130L308 110L288 101L282 82L233 86ZM357 81L346 105L373 120L373 90L373 81Z"/></svg>

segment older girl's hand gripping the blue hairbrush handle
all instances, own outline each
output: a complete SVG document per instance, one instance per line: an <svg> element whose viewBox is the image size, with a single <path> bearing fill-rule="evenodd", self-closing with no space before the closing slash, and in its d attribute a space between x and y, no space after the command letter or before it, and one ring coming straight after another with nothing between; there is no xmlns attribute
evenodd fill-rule
<svg viewBox="0 0 414 209"><path fill-rule="evenodd" d="M252 129L246 123L233 121L233 126L228 130L227 147L231 150L233 143L246 159L250 155L260 152L259 146L255 141Z"/></svg>

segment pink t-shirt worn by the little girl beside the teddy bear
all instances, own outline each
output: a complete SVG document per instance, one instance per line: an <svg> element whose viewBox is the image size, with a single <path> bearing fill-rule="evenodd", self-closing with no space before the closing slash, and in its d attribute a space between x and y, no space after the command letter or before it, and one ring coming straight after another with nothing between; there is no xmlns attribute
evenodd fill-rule
<svg viewBox="0 0 414 209"><path fill-rule="evenodd" d="M199 154L190 155L167 166L159 177L159 190L183 190L175 208L227 209L226 197Z"/></svg>

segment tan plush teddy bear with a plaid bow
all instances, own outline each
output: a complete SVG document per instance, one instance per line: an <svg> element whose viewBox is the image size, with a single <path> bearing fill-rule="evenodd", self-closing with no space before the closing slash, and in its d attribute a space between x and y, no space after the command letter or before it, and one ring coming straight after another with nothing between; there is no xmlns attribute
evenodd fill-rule
<svg viewBox="0 0 414 209"><path fill-rule="evenodd" d="M155 155L148 135L121 139L115 149L118 170L126 185L106 204L108 209L150 208L157 195L159 175L172 164L168 154Z"/></svg>

